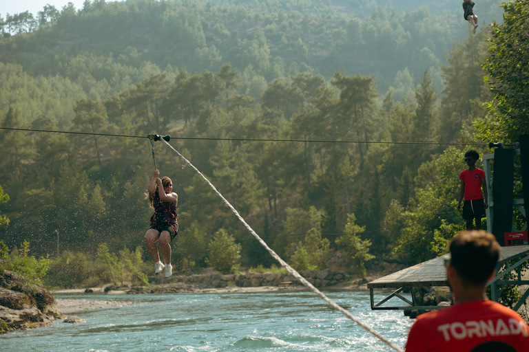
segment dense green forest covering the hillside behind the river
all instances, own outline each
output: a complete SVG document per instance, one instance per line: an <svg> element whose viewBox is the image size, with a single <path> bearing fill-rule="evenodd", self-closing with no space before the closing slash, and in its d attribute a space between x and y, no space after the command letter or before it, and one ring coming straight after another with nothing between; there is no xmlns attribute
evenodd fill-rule
<svg viewBox="0 0 529 352"><path fill-rule="evenodd" d="M464 228L464 153L529 133L527 21L512 20L527 1L480 1L477 34L459 5L87 0L0 18L0 240L52 258L142 246L159 133L302 270L444 253ZM154 148L178 193L178 270L207 265L219 233L269 267L193 168Z"/></svg>

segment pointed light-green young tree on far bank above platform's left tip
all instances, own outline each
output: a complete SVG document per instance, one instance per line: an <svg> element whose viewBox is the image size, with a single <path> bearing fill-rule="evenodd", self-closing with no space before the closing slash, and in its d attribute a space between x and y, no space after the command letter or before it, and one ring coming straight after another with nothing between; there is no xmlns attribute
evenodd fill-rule
<svg viewBox="0 0 529 352"><path fill-rule="evenodd" d="M366 261L371 261L375 256L369 254L371 241L362 240L359 236L364 232L365 226L356 225L355 214L349 214L345 225L345 234L336 239L336 244L345 249L351 262L358 268L362 278L366 277Z"/></svg>

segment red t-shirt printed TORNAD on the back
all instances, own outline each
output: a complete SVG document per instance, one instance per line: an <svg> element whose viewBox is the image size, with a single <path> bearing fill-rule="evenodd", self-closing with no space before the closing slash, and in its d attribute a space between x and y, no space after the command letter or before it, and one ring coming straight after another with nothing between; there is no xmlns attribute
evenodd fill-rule
<svg viewBox="0 0 529 352"><path fill-rule="evenodd" d="M515 311L492 302L459 303L417 317L406 352L527 352L529 327Z"/></svg>

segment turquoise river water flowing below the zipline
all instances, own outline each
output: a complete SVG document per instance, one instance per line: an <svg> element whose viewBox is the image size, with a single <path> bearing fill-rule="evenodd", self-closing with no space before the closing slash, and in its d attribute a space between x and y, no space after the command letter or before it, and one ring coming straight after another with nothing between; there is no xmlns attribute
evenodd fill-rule
<svg viewBox="0 0 529 352"><path fill-rule="evenodd" d="M372 311L369 292L328 295L404 347L413 320L402 311ZM1 351L393 351L309 292L56 298L134 304L70 313L83 324L56 320L53 327L5 334Z"/></svg>

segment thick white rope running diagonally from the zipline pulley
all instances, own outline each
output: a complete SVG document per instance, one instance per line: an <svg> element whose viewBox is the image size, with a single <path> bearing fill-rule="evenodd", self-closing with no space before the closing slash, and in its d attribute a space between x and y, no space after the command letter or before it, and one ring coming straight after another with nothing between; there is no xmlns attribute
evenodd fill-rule
<svg viewBox="0 0 529 352"><path fill-rule="evenodd" d="M346 309L344 309L343 307L341 307L340 305L338 305L338 303L335 303L333 300L331 300L331 298L325 296L319 289L317 289L316 287L314 287L311 283L309 283L309 281L307 281L303 276L300 275L300 273L296 272L295 270L293 270L293 268L287 264L287 262L285 262L284 260L281 259L280 256L278 256L278 254L276 254L276 252L274 252L271 248L269 248L269 246L267 245L266 242L264 242L260 236L258 236L258 234L256 234L255 231L253 231L253 229L250 227L250 225L247 224L247 222L245 221L245 219L243 219L240 214L237 212L237 210L231 206L231 204L229 203L229 201L227 201L227 199L222 196L220 194L220 192L217 190L217 188L215 188L215 186L213 184L211 184L211 182L209 181L209 179L207 179L203 173L201 173L198 168L196 168L193 164L191 164L191 162L189 162L188 159L186 159L182 154L178 153L178 151L173 148L173 146L171 144L169 144L167 141L163 140L163 142L165 142L165 144L167 144L170 148L172 148L172 150L174 150L178 155L180 155L180 157L182 159L185 160L185 162L187 162L187 164L189 164L189 166L191 166L192 168L195 169L195 171L198 173L198 175L202 176L203 179L205 179L205 181L207 182L207 184L209 184L209 186L211 186L211 188L213 188L213 190L220 196L220 198L222 198L222 200L227 204L227 206L229 206L229 208L231 209L231 211L233 211L236 216L239 218L240 221L242 221L242 223L245 224L246 228L249 230L249 232L251 232L251 234L253 234L253 236L257 239L257 241L259 241L259 243L261 243L261 245L271 254L271 256L273 256L274 259L276 259L276 261L278 261L282 267L284 267L285 269L287 269L287 271L292 274L292 276L294 276L295 278L297 278L304 286L308 287L309 289L311 289L311 291L313 291L315 294L317 294L318 296L320 296L323 300L326 301L326 303L329 303L329 305L331 305L331 307L333 307L334 309L342 312L342 314L344 314L344 316L346 316L347 318L353 320L353 322L357 323L357 325L360 325L360 327L363 327L364 329L366 329L366 331L368 331L369 333L372 333L376 338L378 338L379 340L381 340L382 342L384 342L385 344L387 344L389 347L391 347L392 349L394 349L395 351L398 351L398 352L404 352L403 349L401 349L400 347L398 347L396 344L394 344L393 342L391 342L390 340L388 340L387 338L384 338L384 336L382 336L380 333L378 333L377 331L375 331L375 329L373 329L372 327L370 327L369 325L367 325L365 322L362 322L361 320L358 320L357 318L355 318L355 316L353 316L353 314L349 313L349 311L347 311Z"/></svg>

